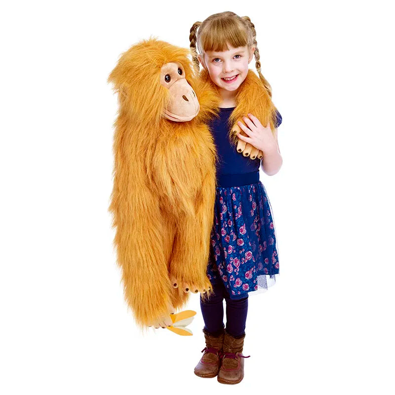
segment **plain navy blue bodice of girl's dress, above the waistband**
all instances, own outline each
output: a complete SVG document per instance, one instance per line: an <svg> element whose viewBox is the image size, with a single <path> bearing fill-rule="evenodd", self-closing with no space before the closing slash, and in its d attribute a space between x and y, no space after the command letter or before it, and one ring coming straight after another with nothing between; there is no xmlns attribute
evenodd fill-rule
<svg viewBox="0 0 395 395"><path fill-rule="evenodd" d="M220 108L219 117L214 117L209 122L208 126L214 137L215 146L219 161L217 163L217 176L221 174L243 174L251 173L259 170L261 159L244 157L241 153L236 151L229 141L228 137L228 119L235 107ZM282 118L277 111L278 127L281 124Z"/></svg>

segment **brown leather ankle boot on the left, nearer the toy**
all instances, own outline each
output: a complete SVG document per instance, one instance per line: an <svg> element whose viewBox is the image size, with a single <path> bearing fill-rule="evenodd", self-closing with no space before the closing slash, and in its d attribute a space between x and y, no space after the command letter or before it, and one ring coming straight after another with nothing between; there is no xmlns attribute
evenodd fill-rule
<svg viewBox="0 0 395 395"><path fill-rule="evenodd" d="M201 350L201 353L204 351L204 354L196 365L194 372L199 377L211 378L218 374L221 366L222 344L224 343L225 333L222 329L218 336L213 336L205 328L203 328L203 333L206 339L206 347Z"/></svg>

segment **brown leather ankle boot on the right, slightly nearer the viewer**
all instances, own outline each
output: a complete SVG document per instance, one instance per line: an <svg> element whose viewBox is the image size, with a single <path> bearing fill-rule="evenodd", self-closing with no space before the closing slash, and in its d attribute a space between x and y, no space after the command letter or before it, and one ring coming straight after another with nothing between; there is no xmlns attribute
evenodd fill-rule
<svg viewBox="0 0 395 395"><path fill-rule="evenodd" d="M222 364L218 372L217 380L222 384L237 384L244 377L244 358L243 356L245 333L242 336L233 337L225 329Z"/></svg>

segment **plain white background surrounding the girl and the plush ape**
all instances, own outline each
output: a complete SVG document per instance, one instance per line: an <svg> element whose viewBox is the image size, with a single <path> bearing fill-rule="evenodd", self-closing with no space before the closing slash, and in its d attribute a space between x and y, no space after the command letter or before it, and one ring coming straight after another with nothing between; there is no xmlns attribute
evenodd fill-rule
<svg viewBox="0 0 395 395"><path fill-rule="evenodd" d="M394 394L390 1L13 1L1 10L1 394ZM280 276L249 298L245 377L194 375L194 336L141 335L107 212L118 56L250 16L283 122L261 174ZM254 68L254 62L250 63Z"/></svg>

